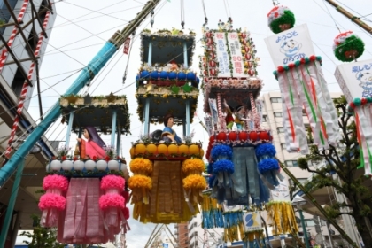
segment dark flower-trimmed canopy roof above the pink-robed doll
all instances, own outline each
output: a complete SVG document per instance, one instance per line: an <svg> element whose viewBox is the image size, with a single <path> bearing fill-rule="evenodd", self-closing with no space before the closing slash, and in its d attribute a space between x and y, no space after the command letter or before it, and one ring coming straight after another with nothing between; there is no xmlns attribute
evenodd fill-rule
<svg viewBox="0 0 372 248"><path fill-rule="evenodd" d="M68 123L71 112L74 112L72 130L79 132L80 128L92 126L98 132L110 134L112 132L112 114L116 111L117 127L122 135L130 131L128 102L126 96L63 96L59 100L60 111Z"/></svg>

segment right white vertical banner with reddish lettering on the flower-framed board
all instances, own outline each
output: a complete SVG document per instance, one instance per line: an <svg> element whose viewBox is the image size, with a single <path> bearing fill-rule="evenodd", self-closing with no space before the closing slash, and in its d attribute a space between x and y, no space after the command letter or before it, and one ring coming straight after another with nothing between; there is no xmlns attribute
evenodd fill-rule
<svg viewBox="0 0 372 248"><path fill-rule="evenodd" d="M233 66L233 77L247 77L247 75L244 74L242 45L239 42L237 33L228 33L228 43L231 54L231 64Z"/></svg>

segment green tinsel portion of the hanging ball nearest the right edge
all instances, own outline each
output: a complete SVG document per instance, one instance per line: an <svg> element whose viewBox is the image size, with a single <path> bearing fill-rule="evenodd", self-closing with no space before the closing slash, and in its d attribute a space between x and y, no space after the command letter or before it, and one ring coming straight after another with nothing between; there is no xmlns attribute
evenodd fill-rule
<svg viewBox="0 0 372 248"><path fill-rule="evenodd" d="M345 56L345 51L348 50L356 50L358 54L356 55L355 58L348 58ZM364 52L364 43L363 41L358 38L355 35L352 35L348 38L345 39L344 43L341 43L337 46L337 48L334 50L335 52L335 57L343 62L351 62L354 59L360 58L360 56Z"/></svg>

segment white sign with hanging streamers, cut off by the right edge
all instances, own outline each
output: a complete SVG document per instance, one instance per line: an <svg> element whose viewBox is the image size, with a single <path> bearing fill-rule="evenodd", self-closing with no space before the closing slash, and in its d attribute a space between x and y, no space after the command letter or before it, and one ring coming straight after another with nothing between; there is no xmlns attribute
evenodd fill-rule
<svg viewBox="0 0 372 248"><path fill-rule="evenodd" d="M372 60L337 66L336 79L353 114L358 143L360 167L365 175L372 175Z"/></svg>

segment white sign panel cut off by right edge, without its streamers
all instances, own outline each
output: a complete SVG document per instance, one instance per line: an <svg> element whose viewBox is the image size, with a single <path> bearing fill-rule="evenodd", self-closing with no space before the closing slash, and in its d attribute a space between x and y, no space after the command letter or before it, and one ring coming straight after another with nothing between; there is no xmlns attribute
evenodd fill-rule
<svg viewBox="0 0 372 248"><path fill-rule="evenodd" d="M335 76L349 103L354 98L372 97L372 59L339 65Z"/></svg>

